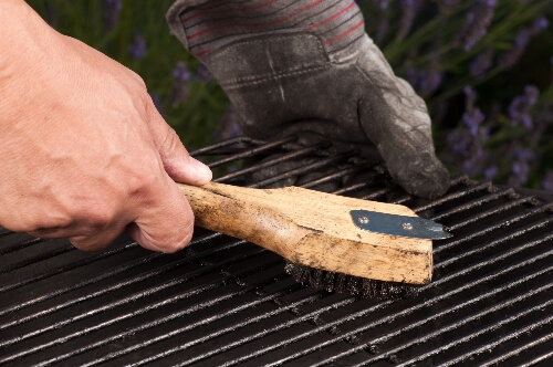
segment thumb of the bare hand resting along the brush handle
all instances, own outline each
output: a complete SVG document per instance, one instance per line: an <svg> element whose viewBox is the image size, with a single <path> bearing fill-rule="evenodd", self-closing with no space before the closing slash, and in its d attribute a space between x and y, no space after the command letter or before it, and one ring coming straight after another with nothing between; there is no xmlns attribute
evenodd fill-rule
<svg viewBox="0 0 553 367"><path fill-rule="evenodd" d="M153 102L148 104L148 126L170 178L190 185L204 185L211 180L209 167L190 157L177 133L167 125Z"/></svg>

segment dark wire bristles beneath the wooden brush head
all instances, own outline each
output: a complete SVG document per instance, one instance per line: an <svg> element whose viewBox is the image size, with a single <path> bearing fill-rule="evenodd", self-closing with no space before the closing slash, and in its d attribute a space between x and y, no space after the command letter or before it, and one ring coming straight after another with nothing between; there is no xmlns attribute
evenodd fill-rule
<svg viewBox="0 0 553 367"><path fill-rule="evenodd" d="M417 294L418 286L334 273L286 261L284 270L304 285L327 292L348 293L363 298L397 300Z"/></svg>

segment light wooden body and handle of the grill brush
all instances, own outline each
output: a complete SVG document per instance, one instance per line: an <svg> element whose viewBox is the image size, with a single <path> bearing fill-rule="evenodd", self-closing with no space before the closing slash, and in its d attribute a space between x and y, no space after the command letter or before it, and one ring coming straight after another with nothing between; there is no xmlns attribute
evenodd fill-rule
<svg viewBox="0 0 553 367"><path fill-rule="evenodd" d="M387 282L421 284L431 279L430 240L362 230L349 216L351 210L364 209L416 217L407 207L296 187L179 186L198 226L255 243L295 263Z"/></svg>

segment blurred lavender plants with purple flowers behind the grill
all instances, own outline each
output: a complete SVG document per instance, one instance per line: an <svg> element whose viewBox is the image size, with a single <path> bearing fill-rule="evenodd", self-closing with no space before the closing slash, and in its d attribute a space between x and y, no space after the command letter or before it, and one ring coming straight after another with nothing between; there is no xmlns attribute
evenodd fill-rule
<svg viewBox="0 0 553 367"><path fill-rule="evenodd" d="M137 72L194 149L240 129L209 72L169 34L173 1L28 0L60 32ZM427 102L453 174L553 191L553 0L356 2L396 74Z"/></svg>

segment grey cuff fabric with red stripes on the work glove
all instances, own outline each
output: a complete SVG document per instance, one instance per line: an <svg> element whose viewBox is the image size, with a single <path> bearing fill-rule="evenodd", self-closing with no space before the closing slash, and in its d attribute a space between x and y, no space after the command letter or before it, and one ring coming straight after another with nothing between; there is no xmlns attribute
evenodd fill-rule
<svg viewBox="0 0 553 367"><path fill-rule="evenodd" d="M340 51L364 33L363 15L352 0L211 0L184 9L180 20L190 52L205 56L234 41L282 31L305 31Z"/></svg>

